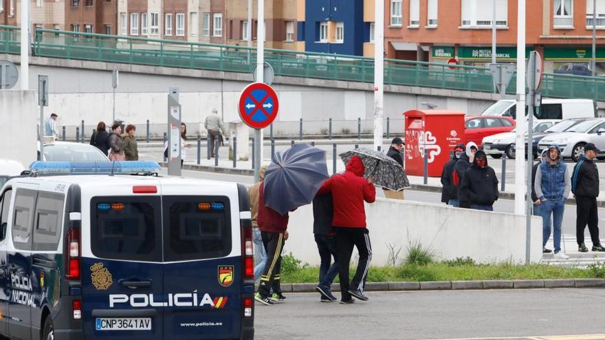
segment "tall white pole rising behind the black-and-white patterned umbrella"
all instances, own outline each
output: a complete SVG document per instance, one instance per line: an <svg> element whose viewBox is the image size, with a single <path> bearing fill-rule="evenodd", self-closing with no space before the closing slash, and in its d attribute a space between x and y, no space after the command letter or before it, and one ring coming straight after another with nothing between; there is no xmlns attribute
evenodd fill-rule
<svg viewBox="0 0 605 340"><path fill-rule="evenodd" d="M376 0L374 8L374 150L382 148L384 115L384 1Z"/></svg>

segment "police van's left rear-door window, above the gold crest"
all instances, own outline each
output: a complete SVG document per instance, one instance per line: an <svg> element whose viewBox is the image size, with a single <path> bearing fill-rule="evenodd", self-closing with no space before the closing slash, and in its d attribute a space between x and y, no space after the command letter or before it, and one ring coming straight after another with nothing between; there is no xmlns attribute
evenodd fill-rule
<svg viewBox="0 0 605 340"><path fill-rule="evenodd" d="M162 261L159 197L94 197L90 211L95 256Z"/></svg>

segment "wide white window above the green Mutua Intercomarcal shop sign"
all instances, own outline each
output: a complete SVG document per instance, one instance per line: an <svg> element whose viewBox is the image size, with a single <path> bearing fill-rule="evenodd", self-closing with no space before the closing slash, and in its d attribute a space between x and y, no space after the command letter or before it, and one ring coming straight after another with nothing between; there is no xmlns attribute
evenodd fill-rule
<svg viewBox="0 0 605 340"><path fill-rule="evenodd" d="M492 27L493 1L462 0L463 27ZM508 0L496 0L496 26L508 25Z"/></svg>

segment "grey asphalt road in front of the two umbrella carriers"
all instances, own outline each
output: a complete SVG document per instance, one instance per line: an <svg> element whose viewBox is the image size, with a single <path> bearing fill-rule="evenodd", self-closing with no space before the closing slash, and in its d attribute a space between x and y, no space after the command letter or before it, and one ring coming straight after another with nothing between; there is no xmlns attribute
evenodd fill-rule
<svg viewBox="0 0 605 340"><path fill-rule="evenodd" d="M290 294L256 304L258 340L387 340L597 335L605 289L368 293L369 302L325 304L318 294Z"/></svg>

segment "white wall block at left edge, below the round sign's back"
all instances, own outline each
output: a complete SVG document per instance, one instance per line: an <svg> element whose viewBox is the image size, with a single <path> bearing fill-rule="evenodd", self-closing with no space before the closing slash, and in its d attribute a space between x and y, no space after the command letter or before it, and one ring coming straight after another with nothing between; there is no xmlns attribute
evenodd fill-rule
<svg viewBox="0 0 605 340"><path fill-rule="evenodd" d="M0 91L0 158L15 159L27 168L36 160L39 120L34 91ZM16 131L17 133L7 133Z"/></svg>

